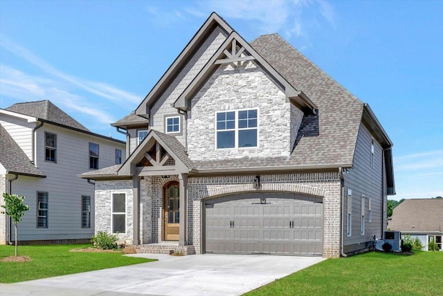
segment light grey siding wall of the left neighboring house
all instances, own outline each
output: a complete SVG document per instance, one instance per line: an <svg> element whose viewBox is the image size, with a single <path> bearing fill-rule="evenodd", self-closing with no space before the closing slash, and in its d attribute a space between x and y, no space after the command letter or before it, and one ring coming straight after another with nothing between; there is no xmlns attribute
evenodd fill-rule
<svg viewBox="0 0 443 296"><path fill-rule="evenodd" d="M57 135L57 163L47 162L45 131ZM115 165L115 149L125 145L45 123L36 132L35 164L46 178L19 176L12 194L25 196L30 210L19 225L20 241L89 239L94 234L94 185L78 178L89 169L89 142L99 145L99 167ZM48 228L37 228L37 192L48 192ZM91 228L82 228L82 196L91 196ZM12 238L13 239L13 238Z"/></svg>

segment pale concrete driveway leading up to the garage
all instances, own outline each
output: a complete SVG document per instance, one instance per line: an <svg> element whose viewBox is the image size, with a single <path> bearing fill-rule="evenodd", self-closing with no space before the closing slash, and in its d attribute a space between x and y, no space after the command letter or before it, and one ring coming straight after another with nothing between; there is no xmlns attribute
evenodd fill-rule
<svg viewBox="0 0 443 296"><path fill-rule="evenodd" d="M159 261L0 284L0 295L242 295L323 258L136 254Z"/></svg>

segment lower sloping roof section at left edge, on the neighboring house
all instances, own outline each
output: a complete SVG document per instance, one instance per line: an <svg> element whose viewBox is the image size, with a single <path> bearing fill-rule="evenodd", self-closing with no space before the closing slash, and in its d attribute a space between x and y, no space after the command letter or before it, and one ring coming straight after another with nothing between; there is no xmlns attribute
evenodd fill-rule
<svg viewBox="0 0 443 296"><path fill-rule="evenodd" d="M0 163L9 174L45 177L1 124L0 139Z"/></svg>

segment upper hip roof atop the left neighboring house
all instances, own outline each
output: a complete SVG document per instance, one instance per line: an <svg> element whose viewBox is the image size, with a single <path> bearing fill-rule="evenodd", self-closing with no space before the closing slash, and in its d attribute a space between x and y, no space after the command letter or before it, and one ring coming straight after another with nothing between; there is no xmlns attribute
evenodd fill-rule
<svg viewBox="0 0 443 296"><path fill-rule="evenodd" d="M62 109L55 106L55 104L51 103L51 101L49 100L17 103L6 108L6 110L33 116L35 118L40 118L48 122L62 124L66 127L89 131L89 129L80 124L80 122L78 122L68 114L64 113Z"/></svg>

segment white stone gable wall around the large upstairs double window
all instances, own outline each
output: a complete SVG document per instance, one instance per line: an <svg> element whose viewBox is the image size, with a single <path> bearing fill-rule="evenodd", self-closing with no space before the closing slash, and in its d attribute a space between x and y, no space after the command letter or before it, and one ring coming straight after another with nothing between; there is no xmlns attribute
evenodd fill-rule
<svg viewBox="0 0 443 296"><path fill-rule="evenodd" d="M238 69L221 65L192 99L188 113L188 154L191 160L289 156L302 119L286 95L254 62ZM215 149L215 113L258 109L257 147ZM292 135L291 135L292 133Z"/></svg>

